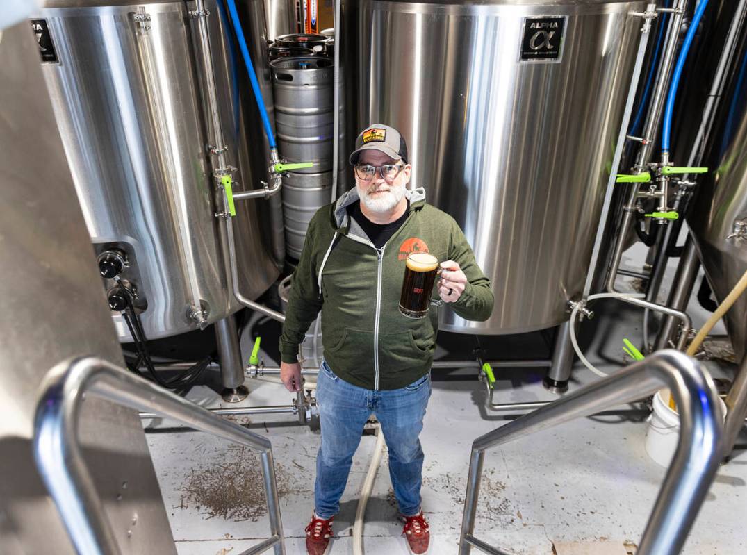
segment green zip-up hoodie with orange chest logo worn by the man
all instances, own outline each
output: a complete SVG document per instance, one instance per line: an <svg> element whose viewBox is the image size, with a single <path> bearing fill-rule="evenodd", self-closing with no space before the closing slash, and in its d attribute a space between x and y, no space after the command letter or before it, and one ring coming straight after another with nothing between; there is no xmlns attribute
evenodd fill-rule
<svg viewBox="0 0 747 555"><path fill-rule="evenodd" d="M298 347L322 312L324 359L346 382L367 389L403 388L424 376L433 362L438 311L487 320L493 309L490 280L462 230L448 214L412 191L405 223L376 249L346 207L359 199L353 188L311 218L293 274L280 353L298 362ZM468 284L456 303L431 306L428 317L400 314L400 292L409 252L427 251L459 263ZM438 287L433 288L438 299ZM446 308L450 307L450 308Z"/></svg>

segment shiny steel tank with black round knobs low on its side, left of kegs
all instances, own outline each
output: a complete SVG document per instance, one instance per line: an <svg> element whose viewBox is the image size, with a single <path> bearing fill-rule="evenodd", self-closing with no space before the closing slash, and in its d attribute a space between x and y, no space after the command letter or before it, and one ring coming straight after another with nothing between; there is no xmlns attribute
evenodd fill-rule
<svg viewBox="0 0 747 555"><path fill-rule="evenodd" d="M247 40L271 106L264 7L246 4ZM266 143L254 99L240 91L245 69L228 16L214 0L205 7L209 15L184 1L52 0L38 16L52 41L55 59L43 70L88 230L97 253L124 252L122 278L137 290L148 338L196 329L199 310L204 326L241 308L228 286L211 147L227 149L235 192L267 179ZM214 75L199 63L199 17L208 25ZM217 89L224 145L206 138L200 81L208 80ZM274 214L264 200L236 202L239 283L249 298L273 283L282 263L282 248L270 239L273 229L282 234L279 199L269 206ZM114 320L128 341L121 317Z"/></svg>

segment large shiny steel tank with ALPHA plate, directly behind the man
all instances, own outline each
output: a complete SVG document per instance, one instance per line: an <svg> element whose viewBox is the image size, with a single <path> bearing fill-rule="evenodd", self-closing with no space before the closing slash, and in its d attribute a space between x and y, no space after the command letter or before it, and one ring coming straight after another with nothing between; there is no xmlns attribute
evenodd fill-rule
<svg viewBox="0 0 747 555"><path fill-rule="evenodd" d="M346 6L357 128L400 129L412 183L451 214L491 277L486 322L568 320L589 267L644 2L361 0ZM351 130L349 130L351 131ZM354 133L350 133L355 137Z"/></svg>

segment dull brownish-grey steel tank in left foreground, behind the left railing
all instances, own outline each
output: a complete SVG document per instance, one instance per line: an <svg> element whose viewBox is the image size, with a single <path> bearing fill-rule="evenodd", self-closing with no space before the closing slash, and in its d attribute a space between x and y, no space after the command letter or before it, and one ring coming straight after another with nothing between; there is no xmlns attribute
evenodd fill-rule
<svg viewBox="0 0 747 555"><path fill-rule="evenodd" d="M40 391L60 363L81 356L119 366L124 361L55 126L37 40L28 21L5 27L13 10L3 7L0 553L73 555L78 551L34 464ZM18 3L16 13L22 9ZM96 510L113 524L117 552L176 555L137 412L88 397L80 417L68 430L80 440L91 483L101 492ZM131 526L133 515L137 526Z"/></svg>

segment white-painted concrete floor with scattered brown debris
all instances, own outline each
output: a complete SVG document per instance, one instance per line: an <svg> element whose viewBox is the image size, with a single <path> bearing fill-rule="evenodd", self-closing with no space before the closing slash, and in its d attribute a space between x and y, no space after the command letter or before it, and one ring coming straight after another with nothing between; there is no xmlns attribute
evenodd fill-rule
<svg viewBox="0 0 747 555"><path fill-rule="evenodd" d="M625 362L622 337L641 344L642 314L614 301L598 303L595 309L600 316L584 323L582 343L593 363L613 371ZM691 307L691 311L695 325L700 325L705 314L698 307ZM451 341L455 342L459 340ZM495 346L505 358L547 356L547 347L541 342L535 341L533 346L522 338L483 344ZM455 358L455 353L442 348L439 356ZM264 359L269 364L270 353L265 353ZM712 368L715 374L724 371ZM543 375L540 370L502 371L495 400L556 398L542 388ZM571 390L594 379L577 365ZM247 385L251 394L243 405L291 400L280 385L255 380ZM206 387L193 389L190 398L205 406L220 405L220 397ZM515 418L488 413L483 403L483 388L474 379L474 370L434 373L433 397L421 435L426 454L423 506L433 534L432 554L456 553L471 442ZM665 472L645 453L647 415L645 406L616 407L605 415L583 418L490 451L475 535L517 555L634 553ZM319 435L294 424L290 415L236 420L273 442L286 549L288 554L303 554L303 528L313 507ZM180 555L236 555L267 537L255 455L208 435L180 430L167 421L145 424ZM373 444L373 436L365 436L356 453L335 521L332 554L352 552L350 534L357 495ZM685 554L747 552L743 524L747 514L747 436L743 435L739 444L737 456L719 469ZM407 553L396 517L384 458L366 512L368 554Z"/></svg>

